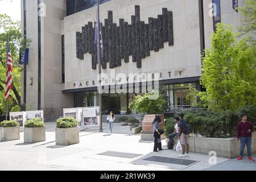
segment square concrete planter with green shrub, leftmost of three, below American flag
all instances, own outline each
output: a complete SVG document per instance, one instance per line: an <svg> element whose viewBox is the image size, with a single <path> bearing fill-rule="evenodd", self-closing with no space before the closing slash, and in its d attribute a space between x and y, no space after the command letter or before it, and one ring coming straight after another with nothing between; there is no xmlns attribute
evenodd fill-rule
<svg viewBox="0 0 256 182"><path fill-rule="evenodd" d="M19 122L3 121L0 123L1 141L19 140Z"/></svg>

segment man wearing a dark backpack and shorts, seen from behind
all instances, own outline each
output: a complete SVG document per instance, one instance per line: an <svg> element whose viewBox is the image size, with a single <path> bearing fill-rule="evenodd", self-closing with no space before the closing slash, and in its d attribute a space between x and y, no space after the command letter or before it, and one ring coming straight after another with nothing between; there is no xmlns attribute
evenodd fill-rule
<svg viewBox="0 0 256 182"><path fill-rule="evenodd" d="M182 154L179 155L179 157L184 158L185 156L188 155L189 151L189 144L188 144L188 135L190 133L190 124L183 118L184 114L180 113L179 114L180 121L177 125L178 127L178 138L180 140L181 146L182 146Z"/></svg>

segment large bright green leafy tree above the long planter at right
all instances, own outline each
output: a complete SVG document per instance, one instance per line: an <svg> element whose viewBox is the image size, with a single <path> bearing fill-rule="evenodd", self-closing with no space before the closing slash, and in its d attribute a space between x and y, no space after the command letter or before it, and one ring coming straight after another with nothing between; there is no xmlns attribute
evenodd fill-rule
<svg viewBox="0 0 256 182"><path fill-rule="evenodd" d="M255 105L255 47L245 40L237 42L232 27L217 24L212 45L205 50L201 100L209 109L236 111L245 105Z"/></svg>

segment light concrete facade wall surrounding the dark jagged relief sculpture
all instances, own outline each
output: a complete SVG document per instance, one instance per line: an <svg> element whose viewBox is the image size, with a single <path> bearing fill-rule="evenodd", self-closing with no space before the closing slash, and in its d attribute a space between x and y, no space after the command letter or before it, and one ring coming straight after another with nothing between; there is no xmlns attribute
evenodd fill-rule
<svg viewBox="0 0 256 182"><path fill-rule="evenodd" d="M200 30L199 30L199 4L194 0L113 0L100 6L101 22L108 17L108 10L113 11L113 22L119 26L119 18L131 23L131 15L135 14L134 5L141 8L141 20L148 23L148 17L157 18L162 14L162 8L173 11L174 16L174 46L164 44L159 52L151 51L151 56L142 59L142 68L137 68L130 56L130 62L124 63L115 69L102 69L103 73L110 75L110 70L118 73L163 73L162 80L171 78L193 77L201 75L200 60ZM82 26L89 21L96 20L96 7L64 18L65 34L65 89L74 89L74 82L97 81L98 71L92 69L92 59L89 53L84 60L76 58L76 31L81 32ZM180 76L177 70L183 70ZM128 76L128 75L127 75ZM79 85L79 84L77 84ZM96 86L96 85L94 85ZM81 88L86 87L83 85ZM92 87L89 85L88 87Z"/></svg>

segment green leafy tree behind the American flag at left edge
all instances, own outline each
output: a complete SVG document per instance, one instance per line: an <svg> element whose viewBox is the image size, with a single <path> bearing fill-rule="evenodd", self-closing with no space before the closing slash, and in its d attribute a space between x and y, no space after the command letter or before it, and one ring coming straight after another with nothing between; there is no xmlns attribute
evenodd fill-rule
<svg viewBox="0 0 256 182"><path fill-rule="evenodd" d="M0 110L5 112L5 80L6 80L6 39L9 34L11 56L13 58L13 87L10 92L9 107L20 105L20 73L19 48L24 49L30 40L24 40L20 32L20 22L13 22L10 16L0 14ZM9 110L10 110L9 108Z"/></svg>

